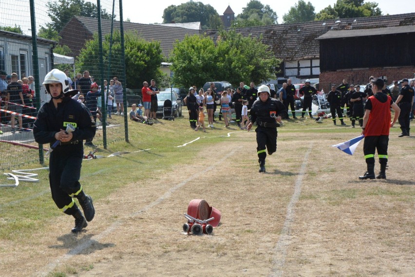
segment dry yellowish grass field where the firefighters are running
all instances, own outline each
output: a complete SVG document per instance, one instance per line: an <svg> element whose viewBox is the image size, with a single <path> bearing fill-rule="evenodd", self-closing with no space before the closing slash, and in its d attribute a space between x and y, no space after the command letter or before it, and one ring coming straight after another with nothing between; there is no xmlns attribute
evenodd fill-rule
<svg viewBox="0 0 415 277"><path fill-rule="evenodd" d="M85 161L96 215L79 235L46 171L1 188L0 276L414 276L415 137L392 129L387 180L359 181L363 144L353 156L331 147L358 128L289 121L260 174L255 132L217 126L134 125L130 144L99 154L134 153ZM212 235L183 233L192 199L222 212Z"/></svg>

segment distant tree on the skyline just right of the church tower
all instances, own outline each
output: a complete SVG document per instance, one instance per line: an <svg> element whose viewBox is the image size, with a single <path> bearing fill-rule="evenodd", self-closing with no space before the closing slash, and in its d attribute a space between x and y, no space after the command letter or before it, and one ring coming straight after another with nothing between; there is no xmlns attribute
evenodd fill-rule
<svg viewBox="0 0 415 277"><path fill-rule="evenodd" d="M277 19L277 13L274 12L269 5L264 6L258 0L251 0L246 4L246 7L242 9L242 13L232 22L232 26L241 28L272 25L278 24Z"/></svg>

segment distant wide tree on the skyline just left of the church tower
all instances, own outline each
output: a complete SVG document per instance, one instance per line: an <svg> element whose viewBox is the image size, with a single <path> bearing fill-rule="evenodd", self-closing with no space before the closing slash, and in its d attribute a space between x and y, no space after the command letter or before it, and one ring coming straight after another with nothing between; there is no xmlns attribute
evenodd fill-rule
<svg viewBox="0 0 415 277"><path fill-rule="evenodd" d="M178 6L170 5L163 12L163 23L198 22L202 29L218 29L222 20L218 12L209 4L189 1Z"/></svg>

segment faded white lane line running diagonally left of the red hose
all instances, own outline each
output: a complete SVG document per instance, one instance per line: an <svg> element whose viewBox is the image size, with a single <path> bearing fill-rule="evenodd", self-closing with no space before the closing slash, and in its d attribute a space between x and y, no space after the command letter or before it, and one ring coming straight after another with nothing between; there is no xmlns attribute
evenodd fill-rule
<svg viewBox="0 0 415 277"><path fill-rule="evenodd" d="M230 156L232 156L233 154L235 154L235 152L237 152L239 150L240 150L240 147L233 149L227 155L225 155L222 159L218 160L214 165L211 165L211 166L207 167L205 170L203 170L200 173L202 173L202 174L203 173L207 173L208 171L212 170L215 166L218 166L218 165L223 164L223 162L227 158L229 158ZM174 187L170 188L168 191L166 191L166 193L164 193L162 196L160 196L155 201L153 201L150 204L144 206L143 208L139 209L138 211L135 211L135 212L131 213L128 216L128 218L135 217L138 214L141 214L143 212L148 211L152 207L154 207L154 206L158 205L159 203L163 202L163 200L169 198L170 195L173 192L175 192L176 190L178 190L182 186L188 184L190 181L192 181L193 179L195 179L195 178L197 178L199 176L200 176L200 174L195 174L195 175L189 177L188 179L184 180L183 182L175 185ZM79 244L74 249L71 249L68 253L66 253L65 255L63 255L62 257L57 257L57 259L55 259L54 261L52 261L49 264L47 264L42 270L40 270L40 272L36 272L32 276L34 276L34 277L38 277L38 276L44 277L44 276L47 276L49 273L51 273L57 267L57 265L59 263L63 263L65 261L67 261L68 259L71 259L73 256L80 254L82 251L84 251L85 249L87 249L88 247L90 247L93 244L99 245L100 244L99 243L99 240L101 240L103 238L106 238L113 231L115 231L116 229L118 229L123 223L125 223L125 220L119 220L119 221L114 222L110 227L108 227L107 229L105 229L104 231L102 231L101 233L99 233L98 235L92 236L90 240L85 241L84 243Z"/></svg>

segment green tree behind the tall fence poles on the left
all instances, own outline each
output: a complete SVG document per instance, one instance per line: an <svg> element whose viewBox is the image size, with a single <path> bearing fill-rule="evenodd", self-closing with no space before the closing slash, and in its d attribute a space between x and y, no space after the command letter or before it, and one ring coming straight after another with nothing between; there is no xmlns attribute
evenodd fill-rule
<svg viewBox="0 0 415 277"><path fill-rule="evenodd" d="M111 57L111 72L108 72L110 35L105 35L102 42L104 56L104 77L120 76L121 72L121 36L119 32L113 33L113 46ZM126 81L129 88L141 88L144 81L162 77L160 64L163 61L162 50L159 41L147 42L138 38L135 33L125 33L125 67ZM100 74L98 36L94 34L92 40L87 41L81 50L75 63L80 71L88 70L95 79ZM121 78L120 78L121 79Z"/></svg>

